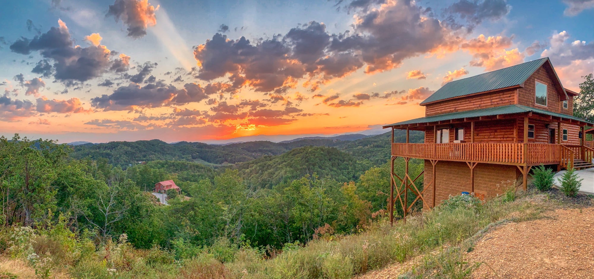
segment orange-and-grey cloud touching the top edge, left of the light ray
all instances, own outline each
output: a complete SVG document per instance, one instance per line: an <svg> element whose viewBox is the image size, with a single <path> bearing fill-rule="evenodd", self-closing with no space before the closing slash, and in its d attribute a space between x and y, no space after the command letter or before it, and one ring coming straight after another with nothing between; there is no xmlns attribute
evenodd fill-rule
<svg viewBox="0 0 594 279"><path fill-rule="evenodd" d="M154 12L159 6L153 7L148 0L116 0L109 5L106 16L113 15L115 21L122 21L128 26L128 37L138 39L147 34L147 28L157 24Z"/></svg>

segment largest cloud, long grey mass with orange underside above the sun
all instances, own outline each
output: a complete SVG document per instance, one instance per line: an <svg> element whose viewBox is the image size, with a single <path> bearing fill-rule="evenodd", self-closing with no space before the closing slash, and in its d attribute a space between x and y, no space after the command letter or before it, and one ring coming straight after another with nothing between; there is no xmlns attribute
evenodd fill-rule
<svg viewBox="0 0 594 279"><path fill-rule="evenodd" d="M227 77L235 88L277 94L305 79L304 87L315 91L358 69L388 71L406 58L456 50L462 41L414 1L355 1L349 9L353 30L339 34L317 21L254 42L214 34L194 48L197 78Z"/></svg>

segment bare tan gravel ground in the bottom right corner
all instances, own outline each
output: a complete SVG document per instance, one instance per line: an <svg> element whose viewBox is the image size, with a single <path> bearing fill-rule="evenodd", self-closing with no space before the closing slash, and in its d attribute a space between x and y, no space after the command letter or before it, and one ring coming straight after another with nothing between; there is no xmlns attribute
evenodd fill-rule
<svg viewBox="0 0 594 279"><path fill-rule="evenodd" d="M594 278L594 208L549 217L487 233L467 254L472 278Z"/></svg>

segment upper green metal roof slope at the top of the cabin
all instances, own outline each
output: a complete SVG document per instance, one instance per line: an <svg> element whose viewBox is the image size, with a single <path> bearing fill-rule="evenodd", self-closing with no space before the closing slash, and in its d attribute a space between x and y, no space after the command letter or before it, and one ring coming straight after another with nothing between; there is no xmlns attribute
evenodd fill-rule
<svg viewBox="0 0 594 279"><path fill-rule="evenodd" d="M523 84L546 61L549 61L548 57L450 81L421 104Z"/></svg>

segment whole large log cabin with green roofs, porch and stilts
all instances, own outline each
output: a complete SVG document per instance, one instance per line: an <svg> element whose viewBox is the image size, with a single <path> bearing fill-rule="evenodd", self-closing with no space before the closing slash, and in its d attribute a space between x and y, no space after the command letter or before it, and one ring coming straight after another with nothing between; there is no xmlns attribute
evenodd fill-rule
<svg viewBox="0 0 594 279"><path fill-rule="evenodd" d="M500 185L508 180L526 190L530 169L540 164L592 167L594 149L586 146L584 127L594 125L573 116L578 95L563 87L549 58L443 85L421 102L425 117L383 126L392 135L407 131L406 143L392 136L390 220L397 201L406 218L418 199L432 208L461 192L491 198L503 194ZM424 131L425 142L409 143L410 130ZM394 173L397 157L406 161L404 177ZM423 187L415 183L420 175L407 174L410 158L425 160ZM409 192L416 195L410 206Z"/></svg>

